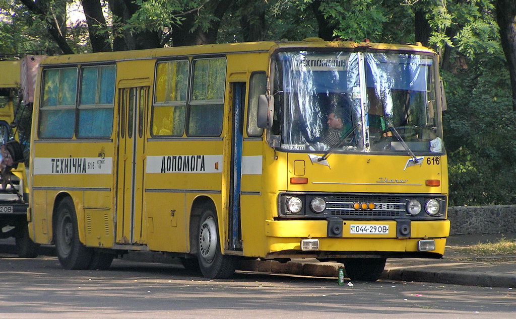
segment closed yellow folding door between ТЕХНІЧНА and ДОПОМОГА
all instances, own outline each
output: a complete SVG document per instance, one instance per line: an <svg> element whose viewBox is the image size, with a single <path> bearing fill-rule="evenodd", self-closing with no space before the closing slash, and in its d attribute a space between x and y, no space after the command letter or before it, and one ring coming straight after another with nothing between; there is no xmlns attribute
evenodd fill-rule
<svg viewBox="0 0 516 319"><path fill-rule="evenodd" d="M119 244L145 244L143 172L149 87L119 89L117 233Z"/></svg>

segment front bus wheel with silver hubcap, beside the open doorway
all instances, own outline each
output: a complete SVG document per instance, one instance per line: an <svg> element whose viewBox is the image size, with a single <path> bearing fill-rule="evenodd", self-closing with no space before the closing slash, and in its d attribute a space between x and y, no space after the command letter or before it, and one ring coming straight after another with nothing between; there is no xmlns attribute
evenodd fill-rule
<svg viewBox="0 0 516 319"><path fill-rule="evenodd" d="M197 232L199 267L206 278L230 278L235 272L237 259L222 255L217 216L211 209L205 210Z"/></svg>

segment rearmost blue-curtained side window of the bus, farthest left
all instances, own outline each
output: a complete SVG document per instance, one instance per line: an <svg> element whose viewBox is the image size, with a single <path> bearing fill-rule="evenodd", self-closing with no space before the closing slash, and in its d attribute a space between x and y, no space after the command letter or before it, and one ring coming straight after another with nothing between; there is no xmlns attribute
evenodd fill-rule
<svg viewBox="0 0 516 319"><path fill-rule="evenodd" d="M75 124L77 68L43 71L39 138L71 139Z"/></svg>

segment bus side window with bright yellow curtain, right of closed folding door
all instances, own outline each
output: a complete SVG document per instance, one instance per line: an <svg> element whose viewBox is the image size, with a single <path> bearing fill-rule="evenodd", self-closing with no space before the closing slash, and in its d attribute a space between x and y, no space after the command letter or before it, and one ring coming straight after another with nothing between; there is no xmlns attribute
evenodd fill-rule
<svg viewBox="0 0 516 319"><path fill-rule="evenodd" d="M188 60L157 64L152 105L152 136L183 136L188 67Z"/></svg>

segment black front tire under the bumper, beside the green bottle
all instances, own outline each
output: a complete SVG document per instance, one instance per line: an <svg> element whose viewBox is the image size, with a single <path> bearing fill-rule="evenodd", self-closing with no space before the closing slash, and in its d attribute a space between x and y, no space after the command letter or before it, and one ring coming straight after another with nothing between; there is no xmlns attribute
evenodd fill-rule
<svg viewBox="0 0 516 319"><path fill-rule="evenodd" d="M386 258L345 258L346 275L351 280L376 281L385 268Z"/></svg>

